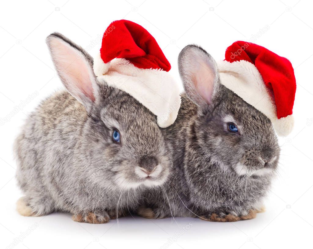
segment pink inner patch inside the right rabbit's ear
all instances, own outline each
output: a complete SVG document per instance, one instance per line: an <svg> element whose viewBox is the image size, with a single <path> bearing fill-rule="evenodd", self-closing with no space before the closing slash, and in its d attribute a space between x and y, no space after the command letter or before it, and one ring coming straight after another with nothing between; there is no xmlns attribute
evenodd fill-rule
<svg viewBox="0 0 313 249"><path fill-rule="evenodd" d="M207 62L199 59L196 62L196 72L194 76L194 85L198 94L208 104L211 103L214 83L215 83L215 70L208 65Z"/></svg>

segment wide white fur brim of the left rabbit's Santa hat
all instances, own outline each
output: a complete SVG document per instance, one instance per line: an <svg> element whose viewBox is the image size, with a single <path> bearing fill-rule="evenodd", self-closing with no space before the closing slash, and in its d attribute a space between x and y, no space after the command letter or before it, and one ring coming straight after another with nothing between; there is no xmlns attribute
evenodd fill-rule
<svg viewBox="0 0 313 249"><path fill-rule="evenodd" d="M140 69L126 59L116 58L110 62L105 75L97 76L146 106L157 116L160 127L168 127L176 120L181 104L180 89L168 72Z"/></svg>

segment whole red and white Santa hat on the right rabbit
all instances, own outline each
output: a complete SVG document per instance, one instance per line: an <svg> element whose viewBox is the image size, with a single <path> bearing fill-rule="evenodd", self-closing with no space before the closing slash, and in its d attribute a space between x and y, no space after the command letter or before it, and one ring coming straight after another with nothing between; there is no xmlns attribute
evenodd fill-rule
<svg viewBox="0 0 313 249"><path fill-rule="evenodd" d="M278 135L292 131L296 82L289 60L259 45L237 41L226 49L218 70L221 83L267 116Z"/></svg>

